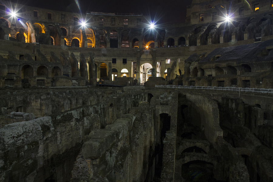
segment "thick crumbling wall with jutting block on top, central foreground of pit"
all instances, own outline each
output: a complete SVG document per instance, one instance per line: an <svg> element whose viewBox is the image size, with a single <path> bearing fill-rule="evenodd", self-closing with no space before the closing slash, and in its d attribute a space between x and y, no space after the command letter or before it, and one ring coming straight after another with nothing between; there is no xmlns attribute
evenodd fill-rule
<svg viewBox="0 0 273 182"><path fill-rule="evenodd" d="M71 181L151 180L155 146L152 115L148 103L142 103L105 129L91 132L74 164Z"/></svg>

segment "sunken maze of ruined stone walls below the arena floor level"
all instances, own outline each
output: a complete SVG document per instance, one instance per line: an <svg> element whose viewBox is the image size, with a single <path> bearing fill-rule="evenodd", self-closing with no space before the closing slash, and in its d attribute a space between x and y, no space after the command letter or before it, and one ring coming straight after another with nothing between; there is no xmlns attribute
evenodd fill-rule
<svg viewBox="0 0 273 182"><path fill-rule="evenodd" d="M18 102L3 99L1 116L41 111L0 129L0 181L273 180L272 98L129 87L11 91L3 98Z"/></svg>

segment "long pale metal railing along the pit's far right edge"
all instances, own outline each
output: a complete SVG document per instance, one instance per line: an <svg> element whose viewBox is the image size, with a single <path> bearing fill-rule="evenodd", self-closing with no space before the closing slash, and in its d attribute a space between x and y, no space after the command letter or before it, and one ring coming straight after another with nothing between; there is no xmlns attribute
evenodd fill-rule
<svg viewBox="0 0 273 182"><path fill-rule="evenodd" d="M273 89L257 89L257 88L242 88L242 87L216 87L216 86L181 86L181 85L155 85L156 88L173 88L173 89L206 89L206 90L223 90L223 91L238 91L252 93L273 93Z"/></svg>

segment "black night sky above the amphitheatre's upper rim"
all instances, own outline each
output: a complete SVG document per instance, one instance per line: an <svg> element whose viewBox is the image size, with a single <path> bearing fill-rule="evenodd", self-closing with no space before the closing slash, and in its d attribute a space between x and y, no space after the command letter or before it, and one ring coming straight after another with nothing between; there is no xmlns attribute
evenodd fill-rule
<svg viewBox="0 0 273 182"><path fill-rule="evenodd" d="M16 1L16 0L14 0ZM192 0L78 0L82 13L143 13L160 19L159 23L184 23L186 6ZM20 4L39 8L79 12L75 0L19 0Z"/></svg>

